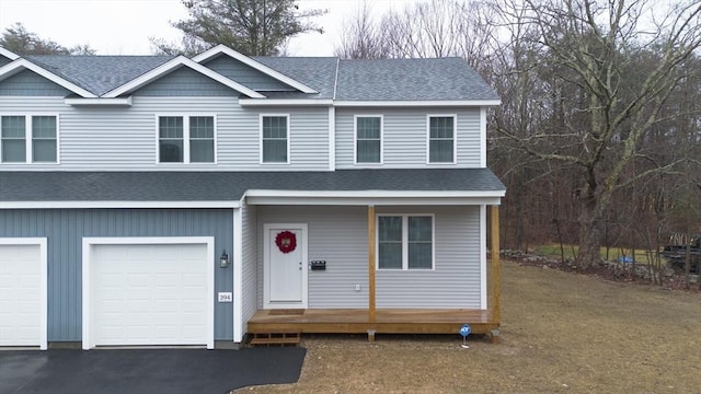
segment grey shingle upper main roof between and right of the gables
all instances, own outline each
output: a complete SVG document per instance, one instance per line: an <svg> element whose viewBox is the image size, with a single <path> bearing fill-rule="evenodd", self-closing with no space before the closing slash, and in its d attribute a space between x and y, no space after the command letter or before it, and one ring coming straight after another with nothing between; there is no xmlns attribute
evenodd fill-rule
<svg viewBox="0 0 701 394"><path fill-rule="evenodd" d="M30 61L102 95L171 60L171 56L27 56ZM279 99L340 101L498 100L461 58L340 60L334 57L255 57L319 92L265 92ZM337 78L337 80L336 80ZM335 92L335 97L334 97Z"/></svg>

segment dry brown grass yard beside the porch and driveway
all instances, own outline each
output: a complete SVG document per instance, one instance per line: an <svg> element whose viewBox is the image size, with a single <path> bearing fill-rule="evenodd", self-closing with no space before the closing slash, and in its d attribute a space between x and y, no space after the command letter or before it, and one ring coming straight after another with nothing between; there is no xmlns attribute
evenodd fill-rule
<svg viewBox="0 0 701 394"><path fill-rule="evenodd" d="M237 393L699 393L701 294L502 264L502 344L304 336L296 384Z"/></svg>

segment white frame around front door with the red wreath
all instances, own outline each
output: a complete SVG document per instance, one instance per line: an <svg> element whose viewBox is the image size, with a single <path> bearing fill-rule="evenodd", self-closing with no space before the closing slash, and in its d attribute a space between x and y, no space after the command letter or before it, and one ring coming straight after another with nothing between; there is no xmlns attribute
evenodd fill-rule
<svg viewBox="0 0 701 394"><path fill-rule="evenodd" d="M271 229L301 230L302 247L302 301L294 303L271 302ZM309 264L308 251L308 225L307 223L265 223L263 224L263 308L264 309L307 309L309 298Z"/></svg>

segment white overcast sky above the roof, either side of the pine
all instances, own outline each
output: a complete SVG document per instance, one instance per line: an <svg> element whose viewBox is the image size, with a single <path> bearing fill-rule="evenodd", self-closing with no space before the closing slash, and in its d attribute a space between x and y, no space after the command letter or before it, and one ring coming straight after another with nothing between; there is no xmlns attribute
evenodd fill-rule
<svg viewBox="0 0 701 394"><path fill-rule="evenodd" d="M375 12L402 8L415 0L370 0ZM344 18L357 12L360 0L300 0L301 9L327 9L315 21L325 33L294 38L291 56L332 56ZM99 55L148 55L149 37L177 40L171 21L187 18L181 0L0 0L0 31L15 22L39 37L72 47L89 44Z"/></svg>

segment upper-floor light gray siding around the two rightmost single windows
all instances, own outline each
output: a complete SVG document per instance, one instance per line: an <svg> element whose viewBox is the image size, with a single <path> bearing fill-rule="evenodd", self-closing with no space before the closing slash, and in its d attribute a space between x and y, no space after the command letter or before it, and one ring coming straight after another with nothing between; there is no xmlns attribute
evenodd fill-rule
<svg viewBox="0 0 701 394"><path fill-rule="evenodd" d="M427 115L458 116L457 164L426 164ZM382 115L383 164L381 167L480 167L480 108L337 108L336 169L378 166L354 164L354 116Z"/></svg>

